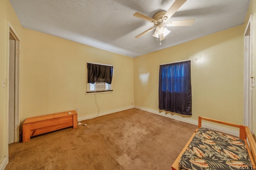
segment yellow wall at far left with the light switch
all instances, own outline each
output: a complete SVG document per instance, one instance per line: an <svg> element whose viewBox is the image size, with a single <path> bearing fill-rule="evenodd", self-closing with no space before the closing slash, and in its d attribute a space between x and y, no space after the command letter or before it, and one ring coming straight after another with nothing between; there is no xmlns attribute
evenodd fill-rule
<svg viewBox="0 0 256 170"><path fill-rule="evenodd" d="M7 140L7 94L6 88L2 87L2 79L8 77L8 35L9 23L13 26L18 37L22 41L22 26L18 20L9 0L0 0L0 162L8 153ZM22 47L22 43L21 43ZM22 57L22 53L20 54ZM1 166L1 164L0 164Z"/></svg>

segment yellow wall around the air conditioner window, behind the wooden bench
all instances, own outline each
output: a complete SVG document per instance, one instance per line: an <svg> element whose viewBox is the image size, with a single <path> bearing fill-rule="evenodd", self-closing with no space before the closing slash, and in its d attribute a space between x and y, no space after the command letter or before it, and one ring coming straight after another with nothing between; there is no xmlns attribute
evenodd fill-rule
<svg viewBox="0 0 256 170"><path fill-rule="evenodd" d="M27 117L74 110L78 118L97 113L86 92L86 62L114 66L113 93L96 94L100 113L132 106L133 58L52 35L24 29L21 121Z"/></svg>

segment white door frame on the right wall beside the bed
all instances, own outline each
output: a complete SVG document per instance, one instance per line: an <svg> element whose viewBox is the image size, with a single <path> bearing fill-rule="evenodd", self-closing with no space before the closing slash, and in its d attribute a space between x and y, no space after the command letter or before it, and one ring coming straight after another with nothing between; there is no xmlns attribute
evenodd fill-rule
<svg viewBox="0 0 256 170"><path fill-rule="evenodd" d="M244 31L244 125L248 126L252 133L253 87L253 15L251 15Z"/></svg>

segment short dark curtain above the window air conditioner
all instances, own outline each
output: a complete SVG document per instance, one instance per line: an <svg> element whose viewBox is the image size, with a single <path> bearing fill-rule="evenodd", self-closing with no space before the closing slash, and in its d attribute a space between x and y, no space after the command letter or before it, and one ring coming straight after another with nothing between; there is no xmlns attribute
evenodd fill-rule
<svg viewBox="0 0 256 170"><path fill-rule="evenodd" d="M113 66L87 63L88 83L106 82L111 84L113 75Z"/></svg>

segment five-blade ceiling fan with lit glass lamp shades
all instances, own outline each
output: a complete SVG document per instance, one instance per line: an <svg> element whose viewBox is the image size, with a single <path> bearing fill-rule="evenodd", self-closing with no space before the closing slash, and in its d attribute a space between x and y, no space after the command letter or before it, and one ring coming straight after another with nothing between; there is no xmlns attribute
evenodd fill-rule
<svg viewBox="0 0 256 170"><path fill-rule="evenodd" d="M160 44L161 41L165 39L165 36L170 33L170 31L164 27L164 25L168 27L173 27L173 26L190 26L194 23L194 19L192 20L178 20L178 21L169 21L167 22L172 15L186 2L186 0L176 0L172 4L172 6L169 8L167 12L165 11L160 11L157 12L153 18L150 18L148 16L145 16L143 14L140 14L139 12L136 12L133 14L133 16L140 18L145 21L149 21L154 24L154 27L151 27L150 29L144 31L143 33L140 33L137 35L135 38L139 38L142 35L145 35L146 33L149 33L150 31L153 31L156 29L155 33L152 35L156 37L157 39L159 38Z"/></svg>

